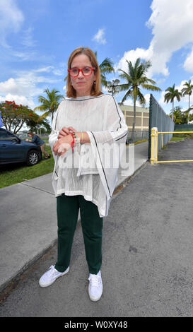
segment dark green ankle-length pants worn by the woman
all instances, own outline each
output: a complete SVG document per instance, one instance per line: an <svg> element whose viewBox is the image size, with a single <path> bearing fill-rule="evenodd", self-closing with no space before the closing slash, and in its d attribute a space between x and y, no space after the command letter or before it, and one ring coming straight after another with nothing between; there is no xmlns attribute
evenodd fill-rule
<svg viewBox="0 0 193 332"><path fill-rule="evenodd" d="M103 218L99 216L98 207L81 195L57 197L58 257L55 268L64 272L70 264L79 208L88 269L97 274L102 264Z"/></svg>

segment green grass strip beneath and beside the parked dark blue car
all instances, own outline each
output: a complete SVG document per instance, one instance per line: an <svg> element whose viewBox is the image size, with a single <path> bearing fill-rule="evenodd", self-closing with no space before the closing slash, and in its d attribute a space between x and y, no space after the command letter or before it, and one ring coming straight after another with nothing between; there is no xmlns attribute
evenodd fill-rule
<svg viewBox="0 0 193 332"><path fill-rule="evenodd" d="M52 155L50 146L46 146L45 150ZM42 160L34 166L26 166L25 163L1 165L0 188L11 186L11 184L20 183L52 172L54 169L53 156L51 156L50 159L44 158L45 156L42 155Z"/></svg>

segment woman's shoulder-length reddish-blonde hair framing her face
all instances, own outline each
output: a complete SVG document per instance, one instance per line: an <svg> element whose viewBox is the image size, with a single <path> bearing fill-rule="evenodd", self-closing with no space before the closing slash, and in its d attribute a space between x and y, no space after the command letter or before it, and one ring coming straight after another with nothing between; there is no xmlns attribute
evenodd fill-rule
<svg viewBox="0 0 193 332"><path fill-rule="evenodd" d="M100 67L98 66L98 61L97 61L92 49L90 49L89 47L78 47L77 49L74 49L74 51L71 52L71 55L69 57L68 69L71 69L71 63L72 63L74 57L76 57L76 55L79 55L79 54L87 55L87 57L90 59L90 63L92 64L93 67L95 67L94 72L95 72L95 77L96 77L96 79L95 79L96 83L95 84L93 83L93 86L90 91L90 95L93 95L93 96L103 95L103 93L101 91L101 83L100 83ZM76 97L76 90L71 85L71 78L70 78L69 73L68 73L68 77L67 77L66 96L67 97Z"/></svg>

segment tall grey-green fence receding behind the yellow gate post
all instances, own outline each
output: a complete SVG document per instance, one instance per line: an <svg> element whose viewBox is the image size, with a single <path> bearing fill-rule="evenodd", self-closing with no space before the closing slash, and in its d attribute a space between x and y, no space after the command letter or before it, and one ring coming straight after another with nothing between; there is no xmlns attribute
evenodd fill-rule
<svg viewBox="0 0 193 332"><path fill-rule="evenodd" d="M158 131L174 131L174 122L168 114L165 114L163 108L160 107L151 94L149 102L148 158L151 158L151 128L153 127L157 127ZM163 145L165 146L171 138L172 134L163 134ZM158 150L161 146L161 135L158 135Z"/></svg>

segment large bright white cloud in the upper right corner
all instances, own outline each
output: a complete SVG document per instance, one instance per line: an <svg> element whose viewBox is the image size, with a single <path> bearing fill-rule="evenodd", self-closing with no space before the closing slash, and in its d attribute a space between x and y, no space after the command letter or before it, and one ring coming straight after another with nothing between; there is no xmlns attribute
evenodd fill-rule
<svg viewBox="0 0 193 332"><path fill-rule="evenodd" d="M148 76L162 73L168 76L168 63L173 52L193 42L193 0L153 0L152 14L146 23L152 29L153 38L148 49L131 49L124 53L117 68L125 68L125 59L136 61L137 57L151 60ZM185 61L185 68L192 70L192 54Z"/></svg>

